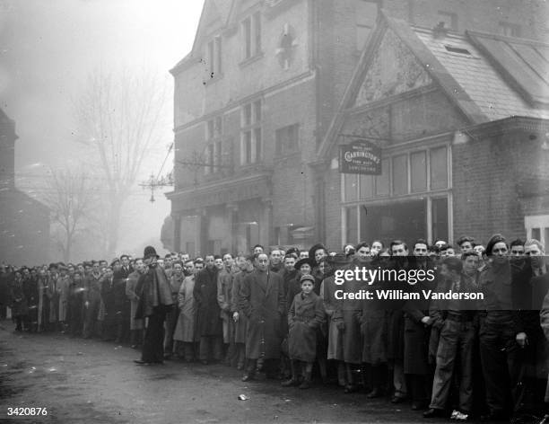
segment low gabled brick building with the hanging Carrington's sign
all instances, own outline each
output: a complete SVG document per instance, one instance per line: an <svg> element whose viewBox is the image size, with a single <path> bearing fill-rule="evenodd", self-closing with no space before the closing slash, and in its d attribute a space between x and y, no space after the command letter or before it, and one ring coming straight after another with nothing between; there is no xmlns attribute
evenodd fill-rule
<svg viewBox="0 0 549 424"><path fill-rule="evenodd" d="M318 150L322 239L549 242L548 60L540 41L380 13ZM338 172L353 136L381 147L381 175Z"/></svg>

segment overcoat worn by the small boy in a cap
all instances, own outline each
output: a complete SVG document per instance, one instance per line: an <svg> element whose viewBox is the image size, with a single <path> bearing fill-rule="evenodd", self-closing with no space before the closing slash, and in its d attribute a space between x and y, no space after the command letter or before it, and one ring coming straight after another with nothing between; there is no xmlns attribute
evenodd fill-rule
<svg viewBox="0 0 549 424"><path fill-rule="evenodd" d="M317 358L317 331L324 322L322 299L313 291L293 298L288 312L288 355L291 359L314 362Z"/></svg>

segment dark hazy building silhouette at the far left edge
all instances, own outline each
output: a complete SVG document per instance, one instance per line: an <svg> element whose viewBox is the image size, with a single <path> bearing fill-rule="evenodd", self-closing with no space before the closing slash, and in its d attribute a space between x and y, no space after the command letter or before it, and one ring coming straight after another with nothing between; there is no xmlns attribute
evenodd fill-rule
<svg viewBox="0 0 549 424"><path fill-rule="evenodd" d="M49 258L49 209L15 188L15 122L0 109L0 261L23 265Z"/></svg>

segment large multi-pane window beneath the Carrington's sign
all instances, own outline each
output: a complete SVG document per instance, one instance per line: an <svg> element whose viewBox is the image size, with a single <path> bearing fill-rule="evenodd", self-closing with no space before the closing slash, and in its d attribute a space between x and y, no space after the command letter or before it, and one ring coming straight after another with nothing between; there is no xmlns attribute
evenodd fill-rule
<svg viewBox="0 0 549 424"><path fill-rule="evenodd" d="M381 171L342 174L342 241L449 240L449 147L388 155Z"/></svg>

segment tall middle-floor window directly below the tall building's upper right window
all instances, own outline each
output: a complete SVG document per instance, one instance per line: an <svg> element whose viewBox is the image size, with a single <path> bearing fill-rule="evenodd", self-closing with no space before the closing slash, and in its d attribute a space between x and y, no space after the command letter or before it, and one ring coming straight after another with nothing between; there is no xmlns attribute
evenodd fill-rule
<svg viewBox="0 0 549 424"><path fill-rule="evenodd" d="M240 164L257 163L263 155L261 133L262 104L258 100L242 106Z"/></svg>

